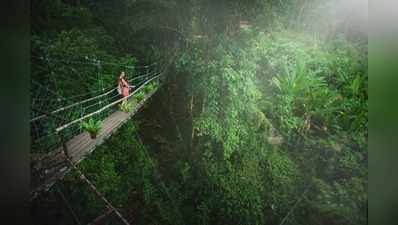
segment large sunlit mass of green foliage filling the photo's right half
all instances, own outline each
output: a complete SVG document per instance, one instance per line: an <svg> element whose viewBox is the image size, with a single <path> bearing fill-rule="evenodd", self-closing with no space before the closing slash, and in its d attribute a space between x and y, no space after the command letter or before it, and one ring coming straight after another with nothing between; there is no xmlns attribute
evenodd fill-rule
<svg viewBox="0 0 398 225"><path fill-rule="evenodd" d="M228 193L239 190L239 199L252 194L261 199L264 208L250 208L251 212L258 212L251 215L257 222L262 221L260 212L266 208L284 215L308 184L304 180L334 180L340 188L336 196L355 189L356 197L344 203L334 198L333 204L345 207L339 209L344 210L341 212L330 209L335 211L331 218L362 224L360 218L364 218L367 201L367 74L363 55L348 42L321 43L291 32L265 35L249 30L233 40L222 36L217 41L212 51L204 51L201 46L210 43L194 43L177 63L181 72L192 73L193 95L203 98L201 113L194 118L194 129L200 140L199 149L207 155L203 160L203 169L209 171L206 179L229 190ZM282 146L271 147L265 141L275 135L282 135ZM355 153L358 150L361 153ZM254 167L254 171L243 172L243 177L255 171L264 176L253 177L253 184L245 184L252 188L250 191L240 190L238 183L230 182L235 170L229 168L250 168L253 161L242 159L251 154L258 156L265 167ZM346 179L360 182L356 187L347 186ZM265 188L256 182L264 182ZM322 189L312 186L318 191ZM241 214L241 206L233 203L234 197L223 200L223 194L214 194L207 198L222 204L203 201L201 207L206 210L201 214L202 220L208 221L204 212L214 213L215 208L220 208L225 210L221 214L236 218L240 224L251 223ZM301 208L313 207L311 204L305 203ZM330 214L318 210L321 218ZM354 219L350 213L358 216ZM271 221L277 222L275 218L272 216ZM219 219L228 223L225 218ZM312 219L303 221L309 220Z"/></svg>

